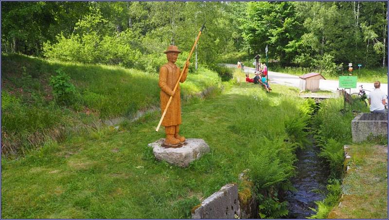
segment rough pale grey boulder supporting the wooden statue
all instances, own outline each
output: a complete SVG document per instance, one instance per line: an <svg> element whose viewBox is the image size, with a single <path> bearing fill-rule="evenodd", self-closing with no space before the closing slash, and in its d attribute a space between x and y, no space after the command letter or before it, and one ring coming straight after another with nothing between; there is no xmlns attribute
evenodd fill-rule
<svg viewBox="0 0 389 220"><path fill-rule="evenodd" d="M163 146L164 141L165 139L161 138L154 143L148 144L148 146L153 148L153 153L157 160L164 160L180 167L188 167L192 161L210 152L210 147L203 139L186 139L182 147L179 148L166 148Z"/></svg>

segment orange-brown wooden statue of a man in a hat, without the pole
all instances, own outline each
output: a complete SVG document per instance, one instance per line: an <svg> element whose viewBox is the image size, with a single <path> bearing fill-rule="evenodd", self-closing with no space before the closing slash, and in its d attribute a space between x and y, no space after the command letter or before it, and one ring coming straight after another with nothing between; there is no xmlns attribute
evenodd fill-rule
<svg viewBox="0 0 389 220"><path fill-rule="evenodd" d="M165 126L165 145L177 145L185 141L185 137L178 135L179 125L181 124L181 97L179 84L176 91L173 91L181 73L180 69L175 64L178 58L178 53L180 52L181 51L178 50L177 46L170 45L167 50L164 51L164 53L166 53L168 63L159 68L158 85L161 88L159 95L162 113L165 111L170 96L173 96L165 118L163 118L161 124L162 126ZM187 66L189 66L189 63ZM179 82L185 82L187 75L188 68L185 69Z"/></svg>

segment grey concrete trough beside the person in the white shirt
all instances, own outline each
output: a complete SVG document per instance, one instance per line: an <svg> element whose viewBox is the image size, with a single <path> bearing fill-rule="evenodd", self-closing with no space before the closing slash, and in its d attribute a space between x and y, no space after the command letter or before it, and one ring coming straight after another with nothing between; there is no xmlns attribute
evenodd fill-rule
<svg viewBox="0 0 389 220"><path fill-rule="evenodd" d="M373 136L388 136L387 113L360 113L351 121L353 142L361 142Z"/></svg>

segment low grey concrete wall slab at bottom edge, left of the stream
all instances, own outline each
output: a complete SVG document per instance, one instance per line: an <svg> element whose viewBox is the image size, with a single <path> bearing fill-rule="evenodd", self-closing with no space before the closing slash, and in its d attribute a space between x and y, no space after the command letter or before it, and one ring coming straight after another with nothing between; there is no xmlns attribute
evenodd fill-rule
<svg viewBox="0 0 389 220"><path fill-rule="evenodd" d="M227 184L205 199L192 213L192 219L234 219L241 217L238 186Z"/></svg>

